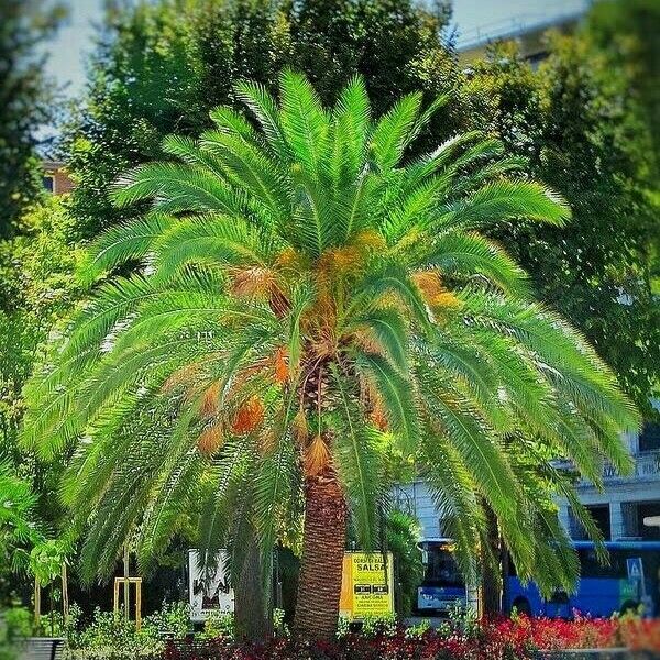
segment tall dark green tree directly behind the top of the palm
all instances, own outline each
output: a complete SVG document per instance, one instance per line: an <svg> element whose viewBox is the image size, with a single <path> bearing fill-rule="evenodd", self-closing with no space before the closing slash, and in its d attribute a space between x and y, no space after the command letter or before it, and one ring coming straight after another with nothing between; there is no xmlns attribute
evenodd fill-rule
<svg viewBox="0 0 660 660"><path fill-rule="evenodd" d="M356 72L382 112L404 92L448 87L442 11L410 0L160 0L111 7L88 88L67 127L73 210L94 234L128 215L109 190L129 166L162 157L172 132L198 135L250 78L275 91L287 66L307 72L330 103ZM382 44L387 43L387 48ZM440 72L437 78L427 69ZM432 80L431 80L432 78ZM439 87L440 86L440 87Z"/></svg>

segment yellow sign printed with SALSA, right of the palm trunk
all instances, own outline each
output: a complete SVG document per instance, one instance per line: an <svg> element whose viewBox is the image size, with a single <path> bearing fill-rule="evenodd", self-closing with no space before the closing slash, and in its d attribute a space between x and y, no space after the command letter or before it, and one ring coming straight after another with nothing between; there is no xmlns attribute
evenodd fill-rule
<svg viewBox="0 0 660 660"><path fill-rule="evenodd" d="M339 609L350 619L394 614L392 552L344 554Z"/></svg>

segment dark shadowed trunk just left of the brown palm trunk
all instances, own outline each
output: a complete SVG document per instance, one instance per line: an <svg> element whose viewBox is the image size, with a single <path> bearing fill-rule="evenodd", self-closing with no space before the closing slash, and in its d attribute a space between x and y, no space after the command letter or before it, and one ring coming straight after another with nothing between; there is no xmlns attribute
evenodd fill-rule
<svg viewBox="0 0 660 660"><path fill-rule="evenodd" d="M263 642L273 637L272 598L264 588L263 562L253 536L234 590L235 637L240 640Z"/></svg>

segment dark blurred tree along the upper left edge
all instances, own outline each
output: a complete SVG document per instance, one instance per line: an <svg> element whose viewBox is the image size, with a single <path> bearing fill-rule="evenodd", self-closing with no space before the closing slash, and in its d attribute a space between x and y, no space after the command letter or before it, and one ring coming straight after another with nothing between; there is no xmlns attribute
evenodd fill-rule
<svg viewBox="0 0 660 660"><path fill-rule="evenodd" d="M0 25L0 239L43 189L36 131L52 117L53 84L43 74L43 42L63 10L34 0L3 0Z"/></svg>

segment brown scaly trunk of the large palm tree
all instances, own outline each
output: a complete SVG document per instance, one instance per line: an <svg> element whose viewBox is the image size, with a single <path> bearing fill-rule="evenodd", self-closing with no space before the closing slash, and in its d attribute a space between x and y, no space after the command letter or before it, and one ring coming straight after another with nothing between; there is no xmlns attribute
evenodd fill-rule
<svg viewBox="0 0 660 660"><path fill-rule="evenodd" d="M302 558L294 631L305 639L332 639L339 619L346 537L346 504L337 475L305 481Z"/></svg>

